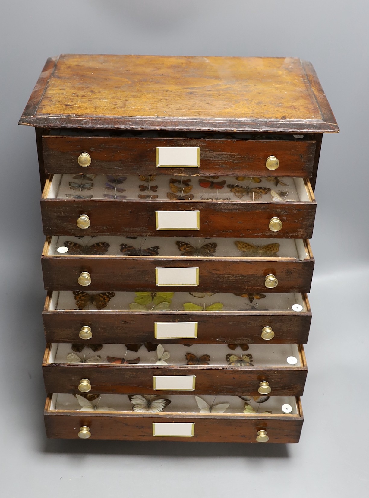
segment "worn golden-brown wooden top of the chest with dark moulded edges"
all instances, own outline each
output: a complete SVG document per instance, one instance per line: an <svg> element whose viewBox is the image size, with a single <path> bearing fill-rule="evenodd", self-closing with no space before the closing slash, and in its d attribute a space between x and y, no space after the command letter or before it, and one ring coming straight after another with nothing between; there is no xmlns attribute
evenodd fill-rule
<svg viewBox="0 0 369 498"><path fill-rule="evenodd" d="M292 57L49 58L19 124L336 132L312 65Z"/></svg>

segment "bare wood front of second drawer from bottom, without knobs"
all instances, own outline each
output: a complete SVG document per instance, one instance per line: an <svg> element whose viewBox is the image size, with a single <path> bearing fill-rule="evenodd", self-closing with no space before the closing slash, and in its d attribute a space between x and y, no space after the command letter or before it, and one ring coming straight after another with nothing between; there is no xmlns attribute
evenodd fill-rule
<svg viewBox="0 0 369 498"><path fill-rule="evenodd" d="M302 367L214 367L214 366L141 366L141 365L69 365L44 364L43 375L47 392L76 393L82 379L88 379L91 393L115 394L212 394L258 396L261 381L271 387L272 396L302 396L307 368ZM194 376L184 390L155 389L154 377ZM169 379L173 384L173 378ZM180 378L182 380L182 378ZM162 384L160 384L162 385ZM194 385L194 387L193 387Z"/></svg>

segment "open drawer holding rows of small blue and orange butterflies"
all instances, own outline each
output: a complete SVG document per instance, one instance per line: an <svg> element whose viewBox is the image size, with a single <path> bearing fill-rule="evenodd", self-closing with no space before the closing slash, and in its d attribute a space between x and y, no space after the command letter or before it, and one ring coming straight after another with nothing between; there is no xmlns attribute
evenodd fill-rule
<svg viewBox="0 0 369 498"><path fill-rule="evenodd" d="M41 199L45 235L310 238L308 179L53 175Z"/></svg>

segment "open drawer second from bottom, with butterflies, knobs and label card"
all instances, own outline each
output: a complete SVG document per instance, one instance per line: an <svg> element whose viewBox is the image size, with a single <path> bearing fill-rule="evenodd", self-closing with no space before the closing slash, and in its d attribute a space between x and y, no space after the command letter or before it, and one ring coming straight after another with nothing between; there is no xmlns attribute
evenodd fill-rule
<svg viewBox="0 0 369 498"><path fill-rule="evenodd" d="M301 396L307 366L290 344L51 344L43 374L47 392Z"/></svg>

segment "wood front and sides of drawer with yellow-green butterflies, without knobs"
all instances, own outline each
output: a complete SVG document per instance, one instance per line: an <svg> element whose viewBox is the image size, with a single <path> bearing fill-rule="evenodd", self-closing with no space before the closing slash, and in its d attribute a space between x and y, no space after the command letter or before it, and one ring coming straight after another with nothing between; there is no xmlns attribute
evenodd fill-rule
<svg viewBox="0 0 369 498"><path fill-rule="evenodd" d="M194 344L306 344L311 311L304 296L307 312L288 311L57 311L49 309L50 294L42 313L46 342L132 344L160 343L154 338L155 322L198 322ZM93 337L82 340L83 326L92 329ZM261 338L263 327L271 327L273 339ZM183 339L165 339L168 344L182 344Z"/></svg>

